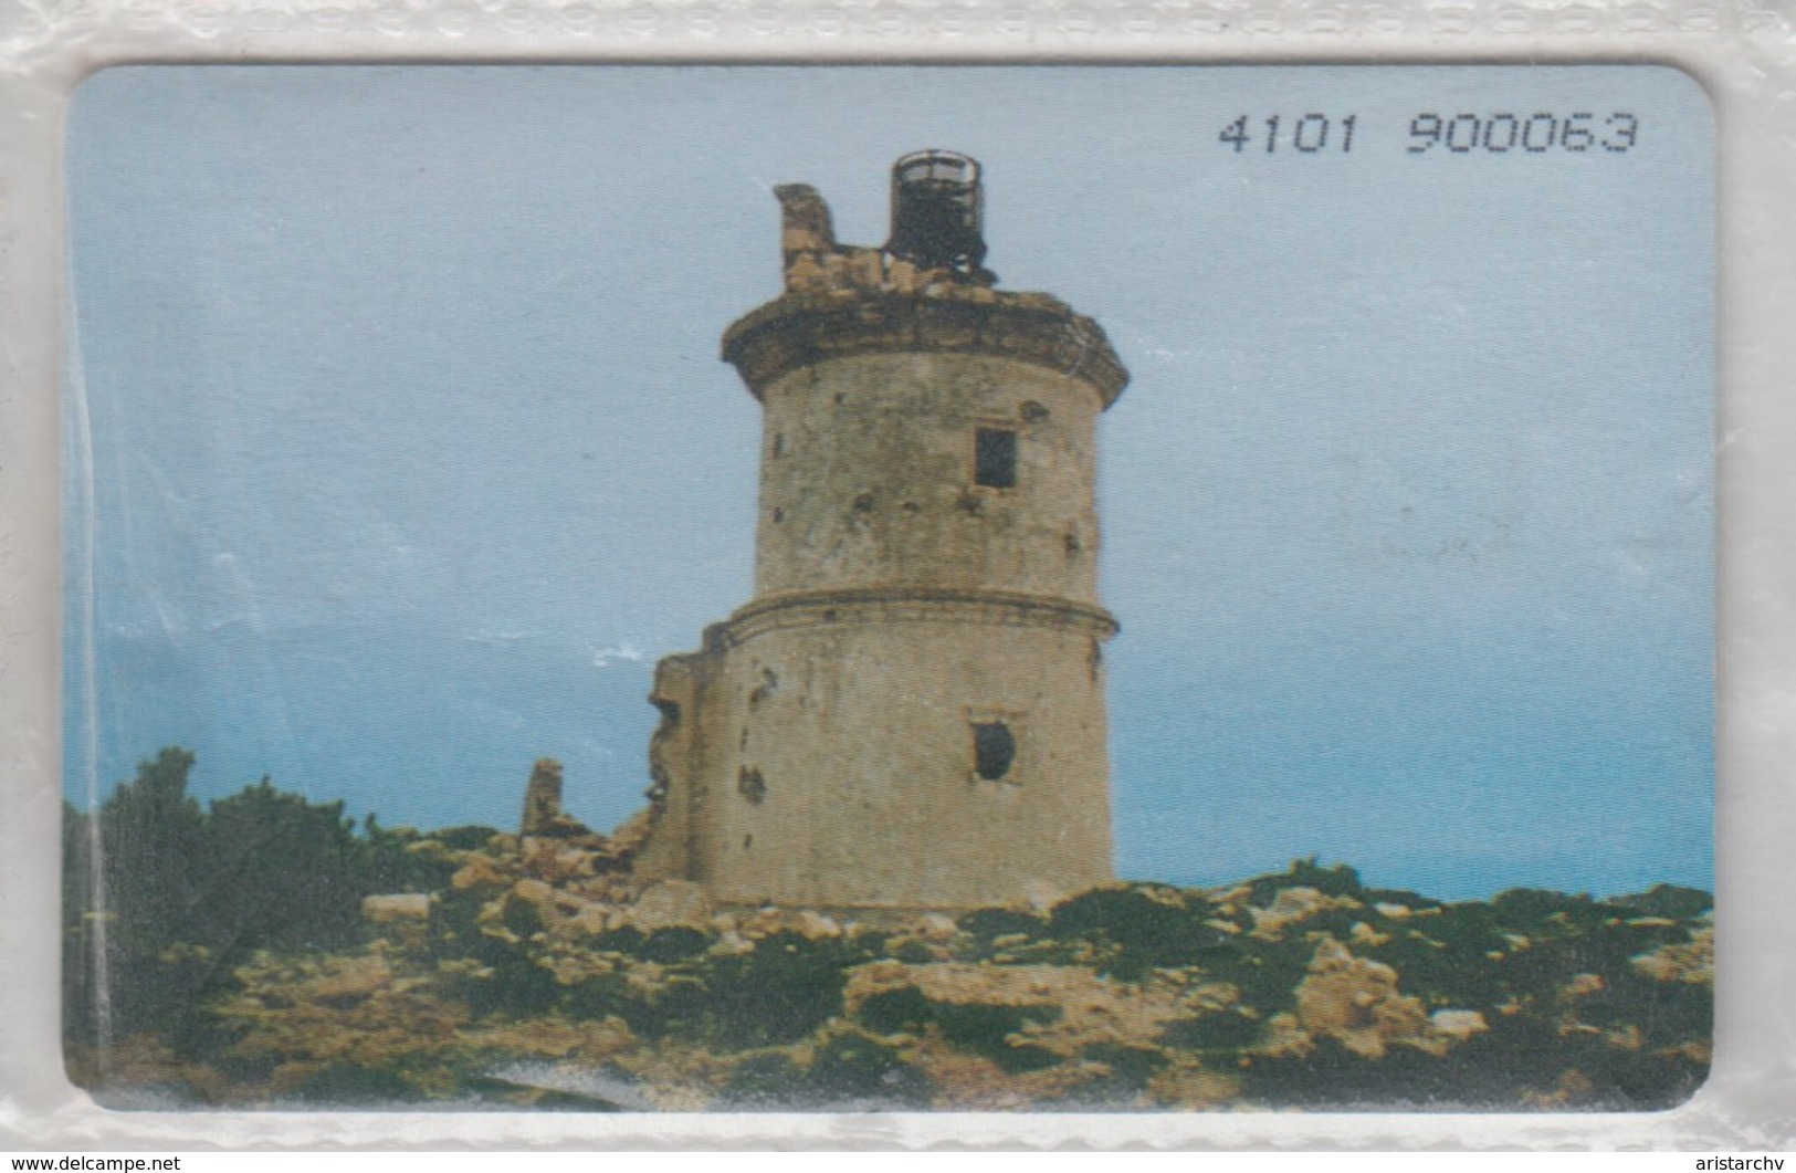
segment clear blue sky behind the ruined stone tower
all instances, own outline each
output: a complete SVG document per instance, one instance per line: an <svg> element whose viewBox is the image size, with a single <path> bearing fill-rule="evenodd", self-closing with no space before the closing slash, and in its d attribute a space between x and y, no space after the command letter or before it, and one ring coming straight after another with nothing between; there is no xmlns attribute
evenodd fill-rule
<svg viewBox="0 0 1796 1173"><path fill-rule="evenodd" d="M1264 153L1331 117L1331 147ZM1408 153L1421 113L1638 119ZM1245 153L1219 131L1250 115ZM1334 144L1354 115L1351 153ZM641 805L659 656L749 598L770 189L1110 332L1117 869L1710 886L1713 146L1611 68L106 70L70 135L68 794L162 745L386 825Z"/></svg>

